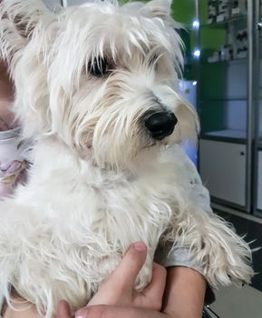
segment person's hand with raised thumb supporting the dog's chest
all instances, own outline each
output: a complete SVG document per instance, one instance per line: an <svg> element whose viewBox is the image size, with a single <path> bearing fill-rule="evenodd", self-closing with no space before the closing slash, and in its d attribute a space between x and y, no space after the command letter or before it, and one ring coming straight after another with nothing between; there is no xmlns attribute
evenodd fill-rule
<svg viewBox="0 0 262 318"><path fill-rule="evenodd" d="M131 248L123 256L117 269L104 283L102 283L98 292L93 296L87 307L82 308L76 313L76 317L81 317L82 313L85 313L90 306L100 304L142 307L160 311L166 282L166 270L162 266L154 263L152 268L152 278L149 285L141 292L134 291L134 283L145 262L146 254L147 250L144 243L132 244ZM103 306L102 308L106 307ZM60 303L58 306L57 318L69 316L68 305L64 302Z"/></svg>

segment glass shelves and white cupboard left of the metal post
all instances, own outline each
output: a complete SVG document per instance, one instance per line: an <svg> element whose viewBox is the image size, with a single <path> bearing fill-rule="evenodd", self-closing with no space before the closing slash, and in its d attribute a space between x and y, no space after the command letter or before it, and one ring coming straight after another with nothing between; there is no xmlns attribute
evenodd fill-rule
<svg viewBox="0 0 262 318"><path fill-rule="evenodd" d="M213 6L209 7L209 3ZM252 207L249 112L253 107L250 104L249 56L253 54L250 45L253 32L250 12L253 9L249 2L248 7L244 1L238 3L239 10L233 7L233 1L226 0L223 4L198 1L202 13L198 80L199 173L213 201L249 213ZM206 15L203 14L205 10Z"/></svg>

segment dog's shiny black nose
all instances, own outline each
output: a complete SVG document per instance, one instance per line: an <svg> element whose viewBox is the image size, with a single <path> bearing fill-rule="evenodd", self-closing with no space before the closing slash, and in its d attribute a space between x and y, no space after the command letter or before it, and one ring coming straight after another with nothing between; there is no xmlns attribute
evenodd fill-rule
<svg viewBox="0 0 262 318"><path fill-rule="evenodd" d="M151 136L157 140L172 134L177 123L177 117L170 112L152 113L145 121Z"/></svg>

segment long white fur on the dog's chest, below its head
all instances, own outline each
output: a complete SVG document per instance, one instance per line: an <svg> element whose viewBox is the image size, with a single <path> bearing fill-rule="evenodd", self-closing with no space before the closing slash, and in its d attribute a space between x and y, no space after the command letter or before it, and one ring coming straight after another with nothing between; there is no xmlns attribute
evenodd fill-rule
<svg viewBox="0 0 262 318"><path fill-rule="evenodd" d="M140 240L149 255L137 288L148 283L176 203L175 174L156 161L140 174L116 174L79 160L56 140L38 144L29 183L17 189L13 215L7 206L0 224L7 229L0 231L1 251L9 244L5 277L13 277L18 293L40 307L67 299L79 308Z"/></svg>

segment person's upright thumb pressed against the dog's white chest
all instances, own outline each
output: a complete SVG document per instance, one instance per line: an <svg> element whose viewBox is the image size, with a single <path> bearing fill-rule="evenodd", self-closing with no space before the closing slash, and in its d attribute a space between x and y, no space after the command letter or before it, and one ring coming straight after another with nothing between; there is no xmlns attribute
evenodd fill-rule
<svg viewBox="0 0 262 318"><path fill-rule="evenodd" d="M141 271L147 257L147 247L145 243L133 243L124 254L121 263L108 279L112 290L133 290L133 286L138 274Z"/></svg>

